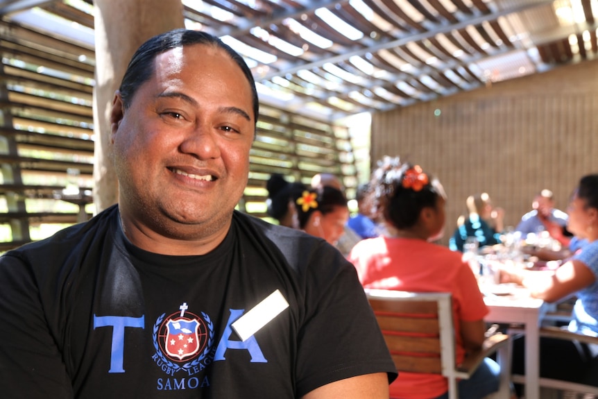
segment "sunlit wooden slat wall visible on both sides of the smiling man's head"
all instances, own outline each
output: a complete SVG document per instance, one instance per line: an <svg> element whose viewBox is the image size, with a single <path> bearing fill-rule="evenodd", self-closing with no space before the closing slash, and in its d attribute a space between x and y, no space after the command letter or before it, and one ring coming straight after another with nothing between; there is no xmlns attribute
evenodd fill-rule
<svg viewBox="0 0 598 399"><path fill-rule="evenodd" d="M31 227L80 216L76 205L65 210L60 196L72 180L69 169L78 169L81 187L93 189L95 62L93 49L6 22L0 55L0 224L12 230L12 241L0 239L1 252L30 241ZM266 216L266 180L274 172L306 183L315 173L335 173L354 192L346 128L262 104L257 130L239 209Z"/></svg>

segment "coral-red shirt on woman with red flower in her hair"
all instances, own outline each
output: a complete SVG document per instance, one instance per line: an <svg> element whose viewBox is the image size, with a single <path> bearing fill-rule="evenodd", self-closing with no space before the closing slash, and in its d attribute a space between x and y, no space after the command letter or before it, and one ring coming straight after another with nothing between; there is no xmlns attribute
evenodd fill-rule
<svg viewBox="0 0 598 399"><path fill-rule="evenodd" d="M376 237L359 241L349 260L365 288L452 294L456 360L463 361L459 321L484 319L488 309L475 276L460 252L421 239ZM429 399L448 390L441 375L400 372L391 384L391 397Z"/></svg>

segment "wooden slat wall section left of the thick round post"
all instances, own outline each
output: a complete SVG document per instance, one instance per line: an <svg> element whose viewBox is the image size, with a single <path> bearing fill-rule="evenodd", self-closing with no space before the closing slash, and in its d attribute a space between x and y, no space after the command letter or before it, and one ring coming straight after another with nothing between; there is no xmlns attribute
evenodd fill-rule
<svg viewBox="0 0 598 399"><path fill-rule="evenodd" d="M83 206L91 201L94 51L5 22L0 33L0 139L8 143L0 148L4 251L41 238L32 233L42 224L87 217L60 198L76 184L87 189Z"/></svg>

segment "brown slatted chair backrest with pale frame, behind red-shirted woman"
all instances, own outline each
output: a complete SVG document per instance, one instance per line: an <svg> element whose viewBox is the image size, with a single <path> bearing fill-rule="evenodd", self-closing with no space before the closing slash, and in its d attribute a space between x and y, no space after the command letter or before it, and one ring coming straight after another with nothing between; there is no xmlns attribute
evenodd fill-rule
<svg viewBox="0 0 598 399"><path fill-rule="evenodd" d="M366 289L398 371L455 377L450 293Z"/></svg>

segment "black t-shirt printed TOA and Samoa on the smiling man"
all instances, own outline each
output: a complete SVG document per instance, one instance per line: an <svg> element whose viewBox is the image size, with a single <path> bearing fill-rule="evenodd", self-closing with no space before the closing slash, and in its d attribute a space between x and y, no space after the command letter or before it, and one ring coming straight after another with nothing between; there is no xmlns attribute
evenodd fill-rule
<svg viewBox="0 0 598 399"><path fill-rule="evenodd" d="M276 291L289 307L241 341ZM395 376L353 266L246 214L202 256L133 246L114 206L0 257L3 398L298 398L377 372Z"/></svg>

